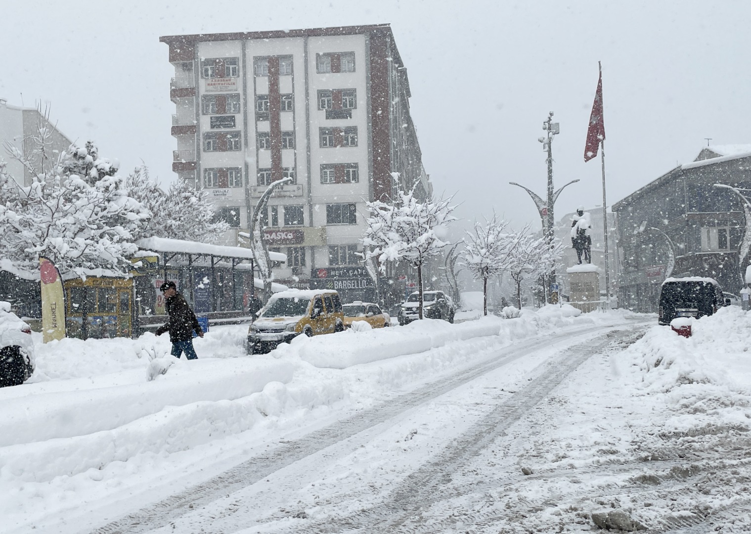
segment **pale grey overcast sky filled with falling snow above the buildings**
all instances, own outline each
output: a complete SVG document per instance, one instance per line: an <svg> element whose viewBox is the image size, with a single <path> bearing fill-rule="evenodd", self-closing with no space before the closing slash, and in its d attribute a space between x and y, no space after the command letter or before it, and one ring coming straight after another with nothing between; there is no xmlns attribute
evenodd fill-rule
<svg viewBox="0 0 751 534"><path fill-rule="evenodd" d="M122 7L120 7L122 6ZM174 180L174 69L161 35L391 23L436 192L458 215L539 218L548 111L556 215L602 203L584 140L602 61L608 205L713 144L751 143L749 2L7 2L0 97L49 102L68 137Z"/></svg>

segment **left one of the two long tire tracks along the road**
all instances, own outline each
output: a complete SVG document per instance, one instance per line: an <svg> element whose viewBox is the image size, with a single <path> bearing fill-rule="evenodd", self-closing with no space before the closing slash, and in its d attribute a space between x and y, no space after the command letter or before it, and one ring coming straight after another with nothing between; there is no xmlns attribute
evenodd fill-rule
<svg viewBox="0 0 751 534"><path fill-rule="evenodd" d="M620 325L620 327L623 327L623 325ZM580 337L591 336L593 333L609 328L617 329L618 326L604 327L599 325L575 332L569 331L559 335L546 336L544 343L541 343L540 337L535 337L526 342L500 348L493 358L472 365L436 382L421 386L399 397L394 397L379 406L357 412L349 418L337 421L329 427L315 430L300 439L285 442L279 447L252 457L250 460L197 484L195 487L190 487L89 532L91 534L137 534L138 532L149 532L149 530L167 526L182 515L188 514L195 508L200 508L201 505L206 505L226 496L228 493L261 481L261 479L291 463L302 460L310 454L341 442L369 427L381 424L485 373L524 358L536 351L550 350L551 345L556 343L575 342ZM533 381L531 384L535 382Z"/></svg>

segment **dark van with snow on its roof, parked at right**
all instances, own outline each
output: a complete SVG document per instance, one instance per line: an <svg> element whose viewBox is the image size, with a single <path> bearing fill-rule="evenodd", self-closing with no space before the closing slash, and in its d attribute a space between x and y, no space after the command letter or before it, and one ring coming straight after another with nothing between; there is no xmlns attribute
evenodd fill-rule
<svg viewBox="0 0 751 534"><path fill-rule="evenodd" d="M659 324L670 324L677 317L712 315L724 303L722 288L713 278L668 278L659 294Z"/></svg>

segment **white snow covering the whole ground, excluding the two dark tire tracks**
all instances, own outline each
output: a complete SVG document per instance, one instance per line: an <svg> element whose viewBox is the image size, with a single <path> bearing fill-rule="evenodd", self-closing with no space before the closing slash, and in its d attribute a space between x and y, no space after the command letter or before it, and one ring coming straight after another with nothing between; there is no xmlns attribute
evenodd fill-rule
<svg viewBox="0 0 751 534"><path fill-rule="evenodd" d="M499 400L513 399L562 354L566 339L586 341L597 327L601 334L636 329L639 320L620 311L576 315L548 306L507 320L348 330L254 357L243 349L246 327L216 327L195 342L198 361L178 361L152 382L149 353L164 357L166 336L38 343L32 379L0 389L0 532L88 532L499 348L539 345L409 412L354 453L315 457L306 472L286 467L273 490L254 484L238 501L253 502L252 511L229 505L236 523L222 523L216 518L228 512L208 506L164 532L250 524L266 526L246 532L305 532L316 520L353 514ZM435 531L586 532L600 508L626 510L647 526L669 525L670 514L690 525L730 510L713 524L751 531L751 319L722 309L697 321L690 339L647 321L642 339L584 360L544 403L530 406L532 416L452 473L451 491L433 505ZM553 334L561 340L551 341ZM455 529L445 526L447 510Z"/></svg>

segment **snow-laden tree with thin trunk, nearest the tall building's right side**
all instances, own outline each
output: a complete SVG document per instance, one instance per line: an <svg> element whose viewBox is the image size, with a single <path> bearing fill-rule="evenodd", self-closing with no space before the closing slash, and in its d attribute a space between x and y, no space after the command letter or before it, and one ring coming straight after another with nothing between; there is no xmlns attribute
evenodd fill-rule
<svg viewBox="0 0 751 534"><path fill-rule="evenodd" d="M448 244L439 238L439 233L442 233L440 228L455 219L451 216L454 210L451 197L428 198L421 202L415 197L414 189L400 190L391 204L374 201L367 202L366 206L370 212L363 236L366 260L375 258L382 273L386 272L388 261L397 264L406 261L415 267L420 291L418 311L423 318L422 268Z"/></svg>

